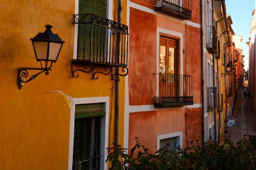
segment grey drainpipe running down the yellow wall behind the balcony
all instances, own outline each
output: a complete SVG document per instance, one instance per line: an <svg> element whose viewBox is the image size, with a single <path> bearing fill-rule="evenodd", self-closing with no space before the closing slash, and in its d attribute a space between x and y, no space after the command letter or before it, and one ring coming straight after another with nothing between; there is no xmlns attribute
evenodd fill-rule
<svg viewBox="0 0 256 170"><path fill-rule="evenodd" d="M122 22L122 0L119 0L118 22ZM119 38L120 41L120 38ZM120 42L118 43L120 44ZM119 50L118 50L119 51ZM119 56L119 54L118 54ZM115 144L118 144L118 126L119 126L119 68L116 67L116 102L115 102Z"/></svg>

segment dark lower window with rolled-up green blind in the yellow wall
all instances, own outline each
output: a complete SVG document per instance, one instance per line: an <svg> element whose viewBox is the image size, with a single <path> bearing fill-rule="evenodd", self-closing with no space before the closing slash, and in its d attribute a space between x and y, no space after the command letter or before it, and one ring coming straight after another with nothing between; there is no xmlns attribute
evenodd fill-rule
<svg viewBox="0 0 256 170"><path fill-rule="evenodd" d="M79 162L83 169L100 168L101 117L105 115L103 103L76 105L73 170Z"/></svg>

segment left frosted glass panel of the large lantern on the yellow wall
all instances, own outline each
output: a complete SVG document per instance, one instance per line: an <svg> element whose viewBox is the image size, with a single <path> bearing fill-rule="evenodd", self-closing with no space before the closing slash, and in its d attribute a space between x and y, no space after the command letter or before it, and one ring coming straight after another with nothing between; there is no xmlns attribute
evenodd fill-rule
<svg viewBox="0 0 256 170"><path fill-rule="evenodd" d="M46 60L48 42L33 41L33 45L36 53L36 60Z"/></svg>

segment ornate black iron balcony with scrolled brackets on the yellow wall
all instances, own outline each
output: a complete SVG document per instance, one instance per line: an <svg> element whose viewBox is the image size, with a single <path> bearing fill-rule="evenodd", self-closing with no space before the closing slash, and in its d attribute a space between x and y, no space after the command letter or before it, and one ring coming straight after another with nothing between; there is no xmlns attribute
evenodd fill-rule
<svg viewBox="0 0 256 170"><path fill-rule="evenodd" d="M72 63L83 63L83 72L113 73L113 67L121 67L126 76L128 73L128 26L100 17L95 14L75 14L74 24L78 24L77 54ZM86 65L86 66L85 66ZM94 72L94 66L104 66L103 72ZM112 75L113 78L113 75Z"/></svg>

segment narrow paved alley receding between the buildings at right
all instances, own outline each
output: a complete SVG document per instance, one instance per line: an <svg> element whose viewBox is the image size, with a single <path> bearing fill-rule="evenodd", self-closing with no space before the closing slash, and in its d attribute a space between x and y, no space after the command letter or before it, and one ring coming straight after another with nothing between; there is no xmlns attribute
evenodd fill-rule
<svg viewBox="0 0 256 170"><path fill-rule="evenodd" d="M246 95L244 100L242 95L244 91L248 94L248 87L241 87L237 92L237 102L232 116L232 120L235 120L235 126L229 126L226 134L226 138L229 138L234 144L246 134L256 135L253 111L249 108L249 100L252 99L248 99L248 95Z"/></svg>

